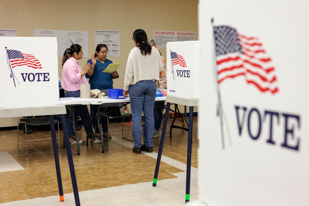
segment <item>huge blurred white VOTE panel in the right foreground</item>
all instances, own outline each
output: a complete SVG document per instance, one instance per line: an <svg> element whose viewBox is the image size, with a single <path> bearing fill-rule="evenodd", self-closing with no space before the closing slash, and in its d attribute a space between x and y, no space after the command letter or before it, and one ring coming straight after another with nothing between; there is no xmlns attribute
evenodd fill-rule
<svg viewBox="0 0 309 206"><path fill-rule="evenodd" d="M199 197L209 206L309 204L308 7L199 2Z"/></svg>

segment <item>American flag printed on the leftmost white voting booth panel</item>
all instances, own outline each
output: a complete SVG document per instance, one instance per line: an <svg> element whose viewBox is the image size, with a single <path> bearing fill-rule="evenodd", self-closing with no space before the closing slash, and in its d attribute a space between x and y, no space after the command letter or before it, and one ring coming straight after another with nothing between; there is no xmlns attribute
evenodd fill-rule
<svg viewBox="0 0 309 206"><path fill-rule="evenodd" d="M25 54L17 50L7 50L11 67L27 65L34 69L42 69L41 63L32 54Z"/></svg>

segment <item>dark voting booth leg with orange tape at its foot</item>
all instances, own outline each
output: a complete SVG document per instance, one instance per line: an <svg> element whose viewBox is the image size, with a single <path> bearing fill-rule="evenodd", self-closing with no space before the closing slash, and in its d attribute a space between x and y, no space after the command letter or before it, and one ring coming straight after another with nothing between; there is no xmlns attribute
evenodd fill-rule
<svg viewBox="0 0 309 206"><path fill-rule="evenodd" d="M61 180L61 171L60 171L60 163L59 163L58 148L57 148L56 130L55 130L54 116L53 115L49 115L49 122L50 122L50 131L51 131L51 134L52 134L52 141L53 141L53 149L54 149L54 156L55 156L55 165L56 165L59 196L60 196L60 201L64 201L62 180Z"/></svg>

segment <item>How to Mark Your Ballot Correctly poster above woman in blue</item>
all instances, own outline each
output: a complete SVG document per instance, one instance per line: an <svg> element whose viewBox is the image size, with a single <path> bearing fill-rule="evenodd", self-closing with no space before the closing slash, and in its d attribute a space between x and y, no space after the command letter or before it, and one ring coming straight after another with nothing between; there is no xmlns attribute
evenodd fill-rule
<svg viewBox="0 0 309 206"><path fill-rule="evenodd" d="M108 57L120 57L119 30L95 30L95 47L98 44L106 44Z"/></svg>

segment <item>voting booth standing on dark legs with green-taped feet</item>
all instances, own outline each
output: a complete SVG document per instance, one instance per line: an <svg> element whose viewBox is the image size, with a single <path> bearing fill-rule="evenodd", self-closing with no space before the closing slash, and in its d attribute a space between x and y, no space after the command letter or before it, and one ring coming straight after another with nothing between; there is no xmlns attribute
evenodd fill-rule
<svg viewBox="0 0 309 206"><path fill-rule="evenodd" d="M187 169L186 169L186 187L185 202L190 200L190 177L191 177L191 151L192 151L192 127L193 127L193 107L198 105L199 95L199 72L200 72L200 44L199 41L183 41L167 43L167 96L166 111L170 110L171 103L175 104L175 115L170 128L170 138L172 128L179 128L188 131L187 147ZM182 128L173 125L178 109L177 105L184 105L184 119L188 128ZM189 106L189 118L187 121L187 106ZM159 175L159 167L163 150L165 131L168 121L168 115L164 116L160 145L155 167L155 175L152 186L156 187Z"/></svg>

